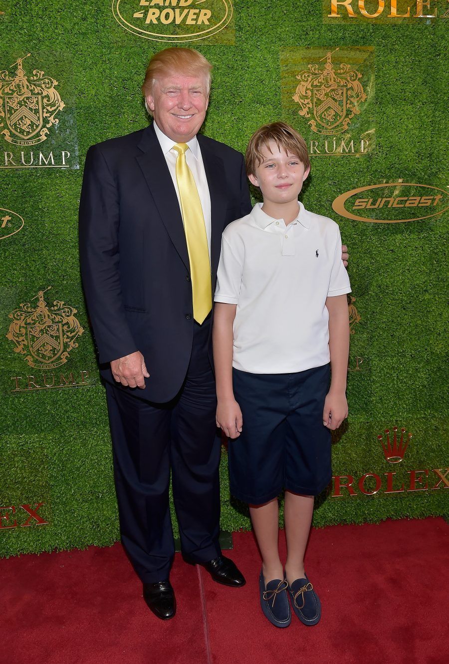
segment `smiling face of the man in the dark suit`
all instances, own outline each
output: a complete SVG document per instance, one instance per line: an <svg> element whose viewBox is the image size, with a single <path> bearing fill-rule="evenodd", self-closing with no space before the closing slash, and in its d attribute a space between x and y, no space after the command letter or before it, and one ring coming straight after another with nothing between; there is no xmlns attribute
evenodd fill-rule
<svg viewBox="0 0 449 664"><path fill-rule="evenodd" d="M205 76L160 76L147 96L159 129L176 143L187 143L199 131L209 104Z"/></svg>

